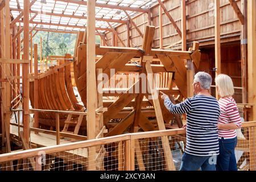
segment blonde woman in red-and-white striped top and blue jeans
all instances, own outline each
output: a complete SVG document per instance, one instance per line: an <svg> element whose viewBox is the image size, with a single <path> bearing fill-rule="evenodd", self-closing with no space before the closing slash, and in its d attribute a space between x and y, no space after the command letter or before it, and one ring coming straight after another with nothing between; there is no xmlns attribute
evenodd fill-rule
<svg viewBox="0 0 256 182"><path fill-rule="evenodd" d="M236 130L241 128L241 119L234 98L234 86L228 75L220 74L215 78L216 88L220 100L221 114L218 118L218 142L220 154L217 157L217 171L237 171L236 156L237 145Z"/></svg>

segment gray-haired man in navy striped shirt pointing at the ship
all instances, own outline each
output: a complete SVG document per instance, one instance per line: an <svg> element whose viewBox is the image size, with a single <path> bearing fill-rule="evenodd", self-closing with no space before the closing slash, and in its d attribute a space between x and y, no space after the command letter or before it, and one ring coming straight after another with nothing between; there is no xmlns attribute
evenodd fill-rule
<svg viewBox="0 0 256 182"><path fill-rule="evenodd" d="M187 114L187 141L182 156L181 171L214 171L214 156L218 151L218 117L220 107L216 98L210 96L212 77L205 72L198 72L193 81L196 96L187 98L180 104L172 104L169 97L162 93L164 105L174 114Z"/></svg>

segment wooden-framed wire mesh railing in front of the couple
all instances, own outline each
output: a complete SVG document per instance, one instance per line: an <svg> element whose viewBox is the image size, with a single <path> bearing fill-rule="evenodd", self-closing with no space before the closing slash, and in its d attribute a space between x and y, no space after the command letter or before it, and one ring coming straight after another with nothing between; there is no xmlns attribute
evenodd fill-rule
<svg viewBox="0 0 256 182"><path fill-rule="evenodd" d="M256 170L256 122L237 130L238 170ZM0 171L179 170L185 130L149 131L0 155Z"/></svg>

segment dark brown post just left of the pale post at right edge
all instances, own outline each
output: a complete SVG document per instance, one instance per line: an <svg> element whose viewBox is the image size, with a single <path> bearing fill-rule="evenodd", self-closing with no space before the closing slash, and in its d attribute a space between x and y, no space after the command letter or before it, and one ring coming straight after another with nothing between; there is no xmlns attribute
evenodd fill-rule
<svg viewBox="0 0 256 182"><path fill-rule="evenodd" d="M241 11L245 17L245 24L241 25L241 76L242 76L242 103L248 103L248 75L247 75L247 0L241 1Z"/></svg>

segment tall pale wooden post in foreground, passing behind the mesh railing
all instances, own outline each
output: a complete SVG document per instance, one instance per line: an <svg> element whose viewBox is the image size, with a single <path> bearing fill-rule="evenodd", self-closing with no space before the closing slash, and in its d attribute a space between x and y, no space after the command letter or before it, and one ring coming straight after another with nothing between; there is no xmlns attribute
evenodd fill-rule
<svg viewBox="0 0 256 182"><path fill-rule="evenodd" d="M96 1L87 1L88 19L87 23L87 137L88 139L94 139L96 137L96 106L97 106L97 85L96 85L96 64L95 64L95 5ZM88 154L89 170L96 169L96 148L90 147Z"/></svg>

